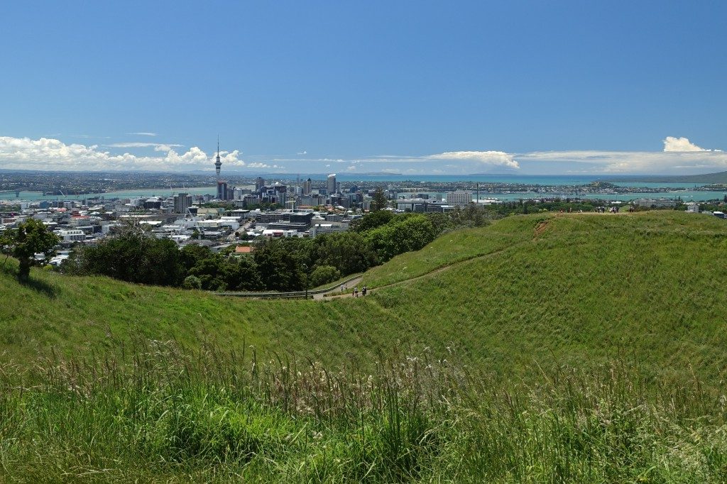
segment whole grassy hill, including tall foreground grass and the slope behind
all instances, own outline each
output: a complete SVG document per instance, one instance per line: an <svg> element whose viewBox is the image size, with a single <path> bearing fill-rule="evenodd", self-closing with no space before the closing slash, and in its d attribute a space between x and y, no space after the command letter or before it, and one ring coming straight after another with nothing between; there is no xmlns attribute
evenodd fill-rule
<svg viewBox="0 0 727 484"><path fill-rule="evenodd" d="M509 217L324 302L6 267L0 480L725 482L726 249L682 212Z"/></svg>

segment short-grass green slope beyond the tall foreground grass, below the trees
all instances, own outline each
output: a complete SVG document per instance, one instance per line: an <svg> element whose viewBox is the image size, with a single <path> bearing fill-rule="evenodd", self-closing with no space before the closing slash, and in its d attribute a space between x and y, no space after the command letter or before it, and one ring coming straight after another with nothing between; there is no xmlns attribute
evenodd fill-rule
<svg viewBox="0 0 727 484"><path fill-rule="evenodd" d="M503 376L626 358L646 374L694 371L716 385L727 368L726 249L727 224L700 215L509 217L369 271L364 283L379 288L370 297L328 302L222 299L40 270L34 286L19 286L6 270L0 350L29 360L134 334L201 336L366 365L379 352L430 347Z"/></svg>

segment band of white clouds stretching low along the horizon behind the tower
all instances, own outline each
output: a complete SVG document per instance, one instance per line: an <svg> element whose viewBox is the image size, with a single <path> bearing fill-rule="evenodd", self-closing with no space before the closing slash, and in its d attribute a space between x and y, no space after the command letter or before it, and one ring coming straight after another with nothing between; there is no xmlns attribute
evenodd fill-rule
<svg viewBox="0 0 727 484"><path fill-rule="evenodd" d="M142 133L137 133L142 134ZM153 133L143 133L153 135ZM223 170L244 173L326 172L342 164L347 173L388 172L401 174L470 174L510 172L522 174L677 174L727 169L727 153L706 149L686 137L668 136L662 151L563 150L505 153L494 150L446 151L425 156L382 155L368 158L316 158L307 151L295 156L249 156L240 150L220 151ZM138 155L111 150L150 150ZM163 142L116 142L108 145L66 144L52 137L0 137L0 169L48 171L154 171L185 172L214 169L216 153L193 146Z"/></svg>

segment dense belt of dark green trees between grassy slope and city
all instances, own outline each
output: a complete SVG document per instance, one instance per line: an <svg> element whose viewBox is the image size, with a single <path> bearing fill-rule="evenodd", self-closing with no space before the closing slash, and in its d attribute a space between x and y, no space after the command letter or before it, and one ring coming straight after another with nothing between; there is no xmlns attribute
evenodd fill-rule
<svg viewBox="0 0 727 484"><path fill-rule="evenodd" d="M181 250L139 227L126 227L93 246L79 247L61 269L121 281L212 291L298 291L361 273L397 254L418 250L438 235L430 217L376 211L353 230L316 238L259 241L252 254L215 254L190 244Z"/></svg>

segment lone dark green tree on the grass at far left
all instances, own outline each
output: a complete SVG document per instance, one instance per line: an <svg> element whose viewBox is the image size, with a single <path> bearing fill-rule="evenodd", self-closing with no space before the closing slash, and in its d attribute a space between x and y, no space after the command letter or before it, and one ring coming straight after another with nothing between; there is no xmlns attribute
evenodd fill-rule
<svg viewBox="0 0 727 484"><path fill-rule="evenodd" d="M17 229L7 230L0 238L0 246L5 254L12 255L20 262L17 278L27 281L33 265L46 265L53 257L53 248L58 241L58 236L48 230L43 222L28 219L20 223ZM36 254L43 254L44 257L36 259Z"/></svg>

